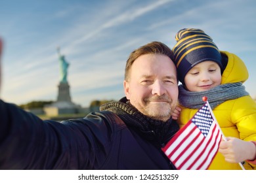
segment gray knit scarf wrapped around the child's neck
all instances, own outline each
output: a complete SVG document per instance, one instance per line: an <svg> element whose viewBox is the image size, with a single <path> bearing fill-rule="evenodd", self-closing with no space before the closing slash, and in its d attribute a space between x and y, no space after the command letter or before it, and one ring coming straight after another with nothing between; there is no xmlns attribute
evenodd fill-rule
<svg viewBox="0 0 256 183"><path fill-rule="evenodd" d="M204 92L189 92L184 86L179 85L179 103L187 108L200 108L204 104L202 97L206 96L211 108L217 107L224 101L237 99L249 95L242 86L242 82L228 83L216 86Z"/></svg>

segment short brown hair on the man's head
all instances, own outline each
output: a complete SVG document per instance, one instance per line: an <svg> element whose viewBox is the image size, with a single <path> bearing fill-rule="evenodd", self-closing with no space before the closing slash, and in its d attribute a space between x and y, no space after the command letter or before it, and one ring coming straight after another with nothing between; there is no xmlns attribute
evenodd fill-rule
<svg viewBox="0 0 256 183"><path fill-rule="evenodd" d="M139 56L146 55L146 54L161 54L169 57L171 61L173 61L173 52L171 49L163 44L162 42L153 41L144 46L141 46L137 50L131 52L129 58L126 61L125 66L125 80L129 80L129 76L131 73L131 65L133 65L134 61L139 58Z"/></svg>

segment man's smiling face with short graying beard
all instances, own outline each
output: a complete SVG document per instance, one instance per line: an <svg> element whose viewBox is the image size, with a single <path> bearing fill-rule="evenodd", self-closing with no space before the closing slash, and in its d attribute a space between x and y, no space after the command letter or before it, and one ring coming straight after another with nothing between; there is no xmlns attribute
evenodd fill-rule
<svg viewBox="0 0 256 183"><path fill-rule="evenodd" d="M142 55L131 66L124 88L127 99L142 114L167 121L178 100L175 65L164 55Z"/></svg>

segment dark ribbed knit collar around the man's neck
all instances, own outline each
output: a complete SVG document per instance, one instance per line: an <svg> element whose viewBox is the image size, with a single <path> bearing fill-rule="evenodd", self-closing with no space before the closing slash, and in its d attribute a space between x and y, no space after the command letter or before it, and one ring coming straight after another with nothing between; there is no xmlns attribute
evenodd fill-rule
<svg viewBox="0 0 256 183"><path fill-rule="evenodd" d="M171 118L167 122L162 122L145 116L133 107L126 97L119 101L106 103L100 106L100 110L116 113L128 127L139 131L143 137L158 141L161 144L168 141L179 130L179 125Z"/></svg>

